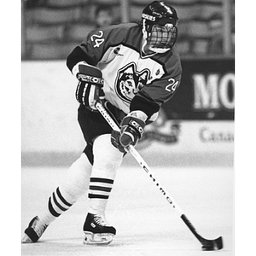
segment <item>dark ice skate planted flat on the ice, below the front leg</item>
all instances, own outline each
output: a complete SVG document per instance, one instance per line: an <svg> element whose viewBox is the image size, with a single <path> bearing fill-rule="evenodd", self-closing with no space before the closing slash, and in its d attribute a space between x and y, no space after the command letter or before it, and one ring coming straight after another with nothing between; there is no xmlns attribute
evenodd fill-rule
<svg viewBox="0 0 256 256"><path fill-rule="evenodd" d="M102 215L88 213L84 222L84 244L106 245L113 240L116 230Z"/></svg>

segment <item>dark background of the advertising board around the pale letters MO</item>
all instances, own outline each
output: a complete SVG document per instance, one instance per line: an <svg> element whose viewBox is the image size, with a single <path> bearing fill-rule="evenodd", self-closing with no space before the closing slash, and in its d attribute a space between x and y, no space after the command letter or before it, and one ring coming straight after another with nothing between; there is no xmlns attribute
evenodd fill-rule
<svg viewBox="0 0 256 256"><path fill-rule="evenodd" d="M194 109L194 84L192 79L195 73L203 73L205 75L218 73L220 76L225 73L235 73L234 58L182 60L182 66L183 76L181 84L172 99L163 105L167 119L234 119L235 109ZM234 97L234 93L233 90L229 90L229 97Z"/></svg>

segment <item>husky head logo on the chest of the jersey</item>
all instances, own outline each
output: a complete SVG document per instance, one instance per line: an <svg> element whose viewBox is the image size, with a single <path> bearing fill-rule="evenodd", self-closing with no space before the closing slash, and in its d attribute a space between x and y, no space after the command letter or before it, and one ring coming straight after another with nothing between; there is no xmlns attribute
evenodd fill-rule
<svg viewBox="0 0 256 256"><path fill-rule="evenodd" d="M134 62L119 69L115 81L115 91L117 95L124 102L131 102L137 92L147 84L149 74L150 72L148 69L143 69L143 71L138 72Z"/></svg>

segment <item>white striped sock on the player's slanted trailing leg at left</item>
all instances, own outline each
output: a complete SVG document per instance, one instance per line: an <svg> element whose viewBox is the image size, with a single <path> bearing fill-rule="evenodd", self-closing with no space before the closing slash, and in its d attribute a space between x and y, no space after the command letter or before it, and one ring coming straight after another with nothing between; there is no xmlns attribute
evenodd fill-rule
<svg viewBox="0 0 256 256"><path fill-rule="evenodd" d="M85 154L82 154L72 166L61 185L49 196L47 208L38 217L49 224L66 212L81 195L84 195L90 182L91 165Z"/></svg>

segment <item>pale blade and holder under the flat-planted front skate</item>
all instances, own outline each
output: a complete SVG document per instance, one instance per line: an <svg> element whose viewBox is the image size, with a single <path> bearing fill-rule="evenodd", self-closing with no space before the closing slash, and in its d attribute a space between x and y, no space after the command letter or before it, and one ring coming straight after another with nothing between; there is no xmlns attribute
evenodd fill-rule
<svg viewBox="0 0 256 256"><path fill-rule="evenodd" d="M91 232L84 231L83 243L86 245L108 245L113 241L113 234L110 233L98 233L93 234Z"/></svg>

